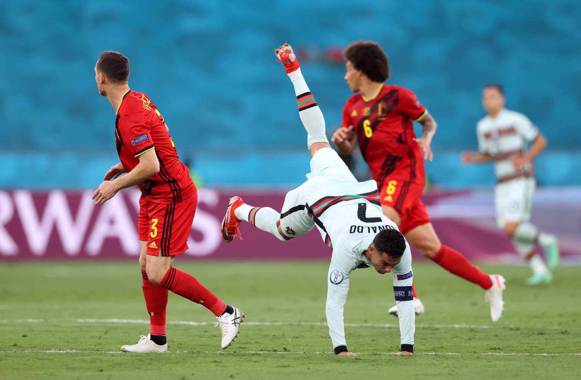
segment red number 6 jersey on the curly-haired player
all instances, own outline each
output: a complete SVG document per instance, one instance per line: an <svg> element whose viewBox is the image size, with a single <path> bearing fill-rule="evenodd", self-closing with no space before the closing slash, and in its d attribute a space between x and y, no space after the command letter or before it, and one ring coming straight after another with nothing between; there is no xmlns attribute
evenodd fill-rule
<svg viewBox="0 0 581 380"><path fill-rule="evenodd" d="M361 154L379 187L388 177L424 185L424 158L413 140L412 121L425 114L415 94L400 86L382 85L372 99L358 93L345 103L341 126L353 125Z"/></svg>

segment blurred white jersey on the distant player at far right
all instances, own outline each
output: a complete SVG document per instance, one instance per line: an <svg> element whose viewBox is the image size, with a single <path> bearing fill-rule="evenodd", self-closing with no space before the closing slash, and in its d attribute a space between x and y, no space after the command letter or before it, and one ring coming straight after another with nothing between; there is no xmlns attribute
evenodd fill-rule
<svg viewBox="0 0 581 380"><path fill-rule="evenodd" d="M539 134L539 129L525 115L504 109L496 118L486 115L476 125L478 149L480 153L489 154L494 162L494 173L497 180L515 175L532 175L532 165L526 164L521 169L515 168L511 157L523 154L526 143Z"/></svg>

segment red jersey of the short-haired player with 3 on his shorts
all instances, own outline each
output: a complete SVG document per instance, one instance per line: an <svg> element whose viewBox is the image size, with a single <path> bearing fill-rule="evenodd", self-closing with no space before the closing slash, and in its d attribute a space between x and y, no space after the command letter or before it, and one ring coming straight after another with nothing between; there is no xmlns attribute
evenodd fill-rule
<svg viewBox="0 0 581 380"><path fill-rule="evenodd" d="M142 196L156 203L174 204L196 193L188 168L181 163L157 107L141 92L128 90L117 108L115 142L125 171L139 164L139 155L155 147L159 173L137 186Z"/></svg>

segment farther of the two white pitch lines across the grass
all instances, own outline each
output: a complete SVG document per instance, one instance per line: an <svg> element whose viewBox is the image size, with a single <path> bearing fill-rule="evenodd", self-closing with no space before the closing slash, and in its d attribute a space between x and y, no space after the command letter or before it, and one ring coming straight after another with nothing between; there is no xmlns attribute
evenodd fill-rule
<svg viewBox="0 0 581 380"><path fill-rule="evenodd" d="M145 319L77 319L80 323L141 323L149 324ZM194 322L194 321L167 321L167 324L184 324L190 326L208 326L214 325L214 322ZM252 322L245 321L245 325L254 326L327 326L325 322ZM346 327L397 327L399 324L372 324L372 323L346 323ZM468 324L417 324L418 328L521 328L520 326L485 326L485 325L468 325ZM538 328L549 330L581 330L579 327L562 327L562 326L537 326L522 328Z"/></svg>

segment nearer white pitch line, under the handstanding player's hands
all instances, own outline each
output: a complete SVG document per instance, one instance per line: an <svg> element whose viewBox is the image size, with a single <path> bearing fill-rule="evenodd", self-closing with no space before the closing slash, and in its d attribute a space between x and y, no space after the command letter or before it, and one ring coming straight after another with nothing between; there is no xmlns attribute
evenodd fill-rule
<svg viewBox="0 0 581 380"><path fill-rule="evenodd" d="M121 351L81 351L81 350L4 350L0 353L99 353L99 354L134 354ZM187 350L178 350L168 353L188 353ZM193 351L196 353L196 351ZM295 355L334 355L334 352L300 352L300 351L203 351L216 354L295 354ZM358 355L395 355L396 352L356 352ZM581 356L581 353L502 353L502 352L419 352L419 355L497 355L497 356Z"/></svg>

